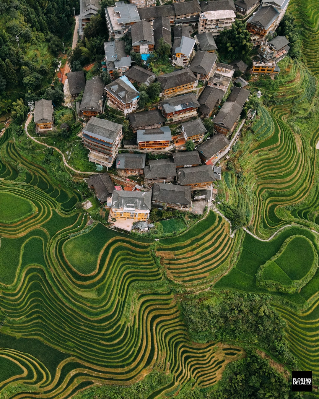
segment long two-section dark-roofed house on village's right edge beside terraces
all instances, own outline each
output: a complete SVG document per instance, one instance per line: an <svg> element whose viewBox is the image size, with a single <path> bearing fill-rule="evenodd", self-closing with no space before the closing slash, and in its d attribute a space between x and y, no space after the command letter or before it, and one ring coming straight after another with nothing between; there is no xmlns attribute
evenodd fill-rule
<svg viewBox="0 0 319 399"><path fill-rule="evenodd" d="M214 119L214 127L217 132L227 135L229 132L234 131L236 122L240 118L242 107L249 94L249 90L239 87L232 88L228 99Z"/></svg>

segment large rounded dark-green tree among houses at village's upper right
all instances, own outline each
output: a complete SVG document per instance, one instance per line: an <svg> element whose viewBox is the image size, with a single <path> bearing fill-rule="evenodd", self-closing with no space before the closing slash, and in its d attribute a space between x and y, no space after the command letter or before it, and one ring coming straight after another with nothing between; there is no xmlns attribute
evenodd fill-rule
<svg viewBox="0 0 319 399"><path fill-rule="evenodd" d="M216 39L219 54L224 58L233 61L236 58L245 59L252 49L250 33L246 29L246 22L235 20L232 27L223 30Z"/></svg>

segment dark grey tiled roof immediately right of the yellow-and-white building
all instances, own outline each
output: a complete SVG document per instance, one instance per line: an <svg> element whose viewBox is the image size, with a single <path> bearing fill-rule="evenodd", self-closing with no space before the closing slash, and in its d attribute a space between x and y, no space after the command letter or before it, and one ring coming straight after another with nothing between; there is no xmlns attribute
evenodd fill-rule
<svg viewBox="0 0 319 399"><path fill-rule="evenodd" d="M154 183L153 201L191 205L191 200L191 187L177 186L175 184Z"/></svg>

